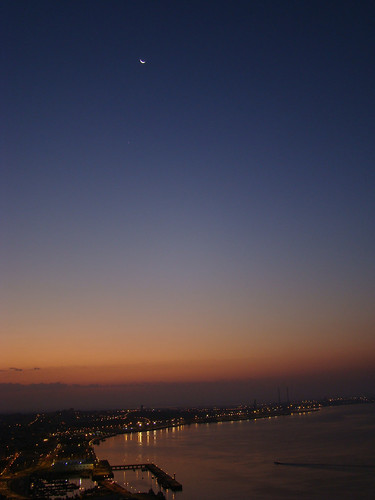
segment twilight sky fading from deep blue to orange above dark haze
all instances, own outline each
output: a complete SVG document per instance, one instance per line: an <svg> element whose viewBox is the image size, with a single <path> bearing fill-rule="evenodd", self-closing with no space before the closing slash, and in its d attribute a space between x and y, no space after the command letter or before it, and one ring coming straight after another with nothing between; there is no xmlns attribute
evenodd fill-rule
<svg viewBox="0 0 375 500"><path fill-rule="evenodd" d="M0 383L374 374L374 2L0 16Z"/></svg>

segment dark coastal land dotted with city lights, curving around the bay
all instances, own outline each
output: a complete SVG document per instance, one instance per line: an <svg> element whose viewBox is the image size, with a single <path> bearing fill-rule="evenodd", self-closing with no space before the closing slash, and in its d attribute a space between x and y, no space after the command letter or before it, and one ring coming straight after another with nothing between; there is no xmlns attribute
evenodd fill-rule
<svg viewBox="0 0 375 500"><path fill-rule="evenodd" d="M105 411L0 415L0 495L2 498L163 498L161 491L132 494L111 481L112 467L99 461L94 445L123 433L147 432L166 427L255 420L296 413L319 411L325 406L366 404L375 398L331 398L320 401L278 402L235 407L138 408ZM152 465L152 464L151 464ZM126 466L126 464L122 464ZM133 467L142 464L133 464ZM145 467L145 464L143 464ZM164 489L180 488L160 469L159 483ZM91 478L92 488L78 489L74 477ZM169 478L169 479L166 479ZM174 485L174 486L173 486ZM182 487L182 486L181 486ZM1 498L0 497L0 498Z"/></svg>

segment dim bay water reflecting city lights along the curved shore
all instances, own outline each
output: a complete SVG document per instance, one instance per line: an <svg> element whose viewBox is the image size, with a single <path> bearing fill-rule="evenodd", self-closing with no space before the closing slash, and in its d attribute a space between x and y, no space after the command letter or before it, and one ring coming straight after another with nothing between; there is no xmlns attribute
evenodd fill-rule
<svg viewBox="0 0 375 500"><path fill-rule="evenodd" d="M118 435L95 451L114 465L154 462L175 473L183 491L167 491L168 500L375 497L374 404ZM159 489L148 472L115 480L133 492Z"/></svg>

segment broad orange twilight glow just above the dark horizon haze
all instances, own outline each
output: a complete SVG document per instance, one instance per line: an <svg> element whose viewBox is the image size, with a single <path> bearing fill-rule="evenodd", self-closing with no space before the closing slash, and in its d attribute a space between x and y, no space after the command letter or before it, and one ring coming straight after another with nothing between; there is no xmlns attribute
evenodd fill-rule
<svg viewBox="0 0 375 500"><path fill-rule="evenodd" d="M80 316L77 323L68 317L65 322L46 317L44 322L27 323L14 316L7 325L9 341L0 353L0 380L197 382L282 378L375 365L371 316L359 324L346 317L327 322L308 316L302 321L300 312L290 318L254 313L251 321L227 311L177 318L180 313L171 313L165 321L159 314L129 316L127 322L110 320L107 313L100 321ZM355 336L355 331L361 335Z"/></svg>

